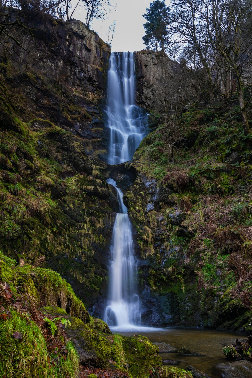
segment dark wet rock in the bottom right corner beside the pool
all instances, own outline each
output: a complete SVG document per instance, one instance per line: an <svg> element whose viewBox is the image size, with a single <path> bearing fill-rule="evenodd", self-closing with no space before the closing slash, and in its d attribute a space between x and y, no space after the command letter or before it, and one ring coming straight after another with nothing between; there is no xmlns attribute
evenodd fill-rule
<svg viewBox="0 0 252 378"><path fill-rule="evenodd" d="M216 372L223 378L252 378L252 363L249 361L235 361L218 364Z"/></svg>

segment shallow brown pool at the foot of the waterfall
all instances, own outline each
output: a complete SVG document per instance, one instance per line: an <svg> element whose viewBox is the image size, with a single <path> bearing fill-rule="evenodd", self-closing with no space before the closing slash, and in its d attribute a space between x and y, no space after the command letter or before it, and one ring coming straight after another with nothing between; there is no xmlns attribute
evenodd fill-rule
<svg viewBox="0 0 252 378"><path fill-rule="evenodd" d="M148 329L148 328L147 328ZM177 349L184 347L201 353L203 356L180 356L178 353L160 353L162 359L178 360L180 363L177 367L186 369L187 366L192 365L202 373L211 378L221 378L221 375L215 370L215 365L219 363L227 363L223 358L223 345L230 345L235 342L238 337L240 339L246 338L245 335L224 332L217 330L202 330L202 329L188 329L188 328L157 328L152 332L144 332L144 327L141 331L123 332L117 330L117 333L124 336L142 335L148 337L152 342L166 342Z"/></svg>

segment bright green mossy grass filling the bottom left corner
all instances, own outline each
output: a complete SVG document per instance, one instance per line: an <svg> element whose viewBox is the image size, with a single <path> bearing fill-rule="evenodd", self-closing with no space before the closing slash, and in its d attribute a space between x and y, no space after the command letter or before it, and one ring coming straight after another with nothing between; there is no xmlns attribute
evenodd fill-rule
<svg viewBox="0 0 252 378"><path fill-rule="evenodd" d="M79 370L79 360L71 341L66 344L67 357L50 364L51 358L40 328L27 314L10 311L10 318L0 321L0 372L10 378L75 378ZM22 340L15 339L20 332Z"/></svg>

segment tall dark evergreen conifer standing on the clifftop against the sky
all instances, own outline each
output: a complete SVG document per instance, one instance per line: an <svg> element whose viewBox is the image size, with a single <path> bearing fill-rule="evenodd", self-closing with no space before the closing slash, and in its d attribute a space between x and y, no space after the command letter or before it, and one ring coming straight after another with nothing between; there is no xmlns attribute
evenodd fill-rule
<svg viewBox="0 0 252 378"><path fill-rule="evenodd" d="M150 3L150 8L146 9L143 17L146 23L143 25L145 29L145 36L143 36L144 45L147 48L156 48L158 46L164 51L164 43L168 36L168 15L170 12L169 6L164 4L165 0L155 0Z"/></svg>

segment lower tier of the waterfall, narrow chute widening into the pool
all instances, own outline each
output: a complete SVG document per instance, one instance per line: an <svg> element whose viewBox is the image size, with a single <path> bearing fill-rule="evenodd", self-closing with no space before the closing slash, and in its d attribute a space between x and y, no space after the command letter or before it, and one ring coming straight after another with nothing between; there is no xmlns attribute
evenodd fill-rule
<svg viewBox="0 0 252 378"><path fill-rule="evenodd" d="M131 223L123 203L123 193L111 178L107 183L117 190L120 213L115 218L109 269L109 301L105 311L105 322L110 326L128 328L139 325L141 312L136 294L137 267L134 257Z"/></svg>

